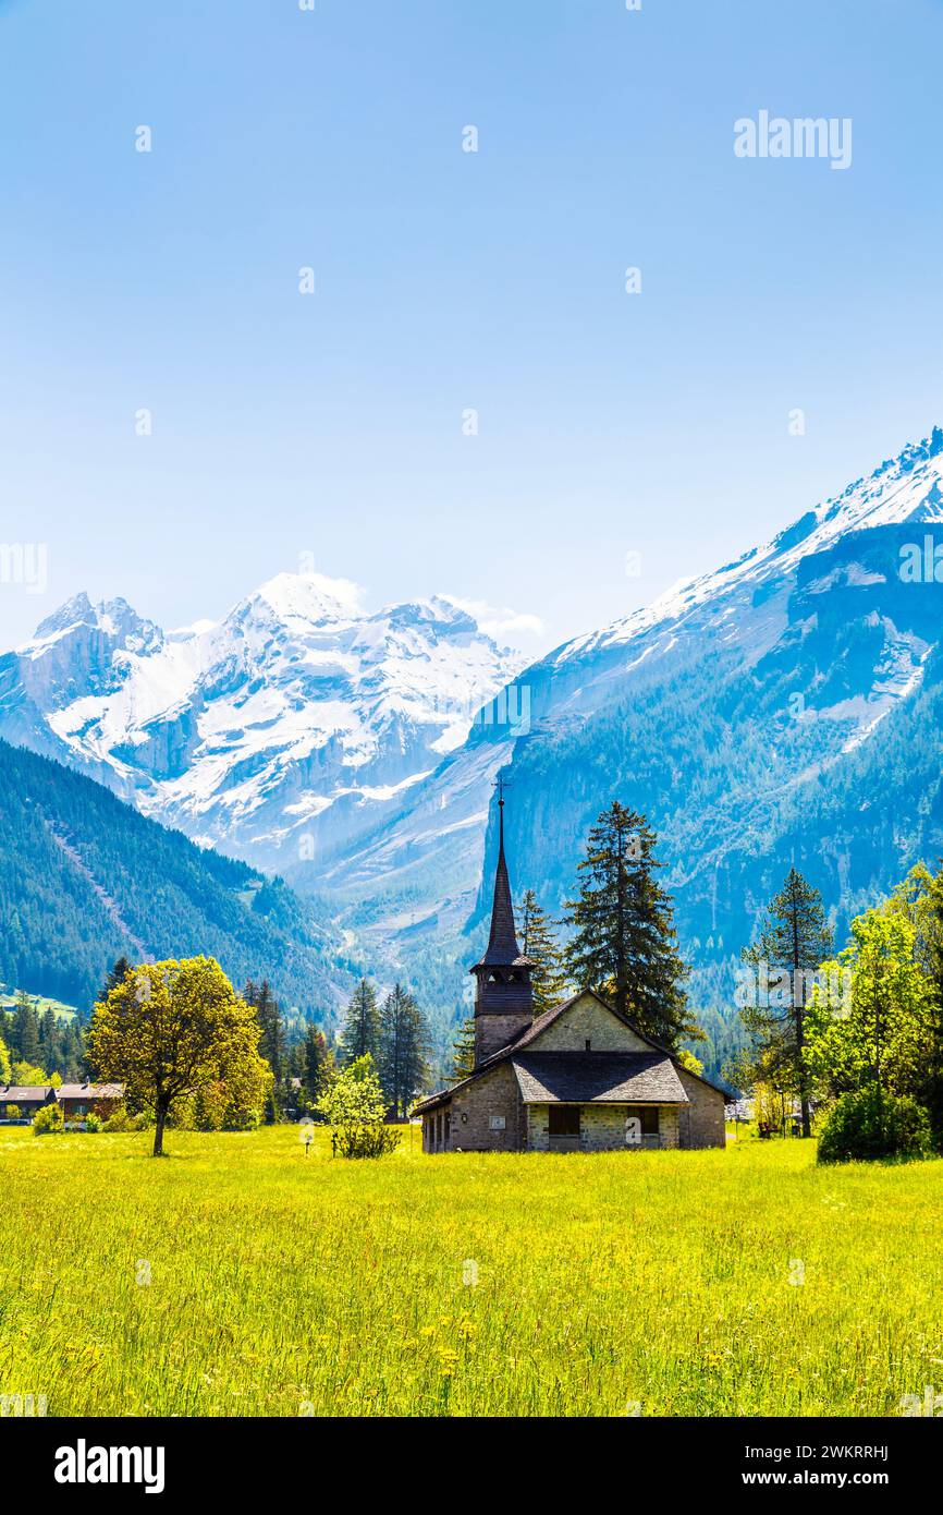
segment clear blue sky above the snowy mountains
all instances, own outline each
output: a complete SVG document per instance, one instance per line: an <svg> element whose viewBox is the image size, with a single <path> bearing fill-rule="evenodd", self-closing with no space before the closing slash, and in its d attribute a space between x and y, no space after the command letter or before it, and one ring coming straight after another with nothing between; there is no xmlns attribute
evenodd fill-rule
<svg viewBox="0 0 943 1515"><path fill-rule="evenodd" d="M772 533L943 418L941 58L940 0L0 0L0 647L310 553L537 650Z"/></svg>

